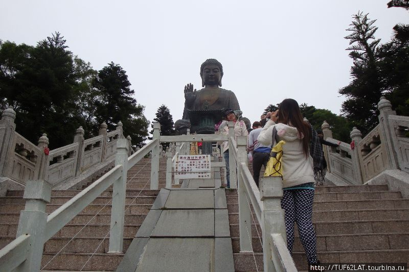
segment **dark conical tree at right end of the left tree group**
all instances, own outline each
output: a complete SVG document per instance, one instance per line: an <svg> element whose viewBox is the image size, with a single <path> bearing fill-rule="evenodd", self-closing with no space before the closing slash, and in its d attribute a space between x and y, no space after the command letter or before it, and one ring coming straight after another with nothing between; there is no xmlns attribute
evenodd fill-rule
<svg viewBox="0 0 409 272"><path fill-rule="evenodd" d="M95 101L97 123L106 122L108 130L114 130L119 121L132 143L143 146L148 136L149 122L143 114L144 106L132 97L126 71L113 62L98 71L93 87L100 91L101 98Z"/></svg>

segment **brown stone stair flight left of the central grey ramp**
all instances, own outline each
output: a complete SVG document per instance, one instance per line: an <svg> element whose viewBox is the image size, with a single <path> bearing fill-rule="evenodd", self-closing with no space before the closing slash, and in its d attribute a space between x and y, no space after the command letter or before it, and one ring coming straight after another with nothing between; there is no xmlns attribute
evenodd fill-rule
<svg viewBox="0 0 409 272"><path fill-rule="evenodd" d="M166 161L161 159L159 189L165 187L165 177ZM150 159L142 159L128 171L124 251L127 250L138 232L159 192L159 190L149 188ZM79 192L80 190L53 191L51 203L47 205L47 212L53 212ZM0 199L0 249L15 239L19 213L25 207L25 200L22 199L23 193L24 191L9 191L6 197ZM111 195L112 188L110 187L46 242L41 268L60 252L44 267L44 270L78 271L81 268L93 271L116 270L124 254L107 254ZM85 226L88 221L89 224ZM68 243L70 240L71 242ZM92 255L93 257L90 258Z"/></svg>

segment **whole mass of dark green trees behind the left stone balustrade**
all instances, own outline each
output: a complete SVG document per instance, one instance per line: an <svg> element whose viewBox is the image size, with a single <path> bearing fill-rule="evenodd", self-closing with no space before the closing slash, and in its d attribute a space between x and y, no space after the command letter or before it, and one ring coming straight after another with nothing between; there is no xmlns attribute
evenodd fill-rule
<svg viewBox="0 0 409 272"><path fill-rule="evenodd" d="M79 126L85 137L122 121L132 143L142 146L148 121L126 72L117 64L101 71L67 50L58 32L36 46L0 40L0 109L13 106L16 131L33 143L47 133L50 148L72 143Z"/></svg>

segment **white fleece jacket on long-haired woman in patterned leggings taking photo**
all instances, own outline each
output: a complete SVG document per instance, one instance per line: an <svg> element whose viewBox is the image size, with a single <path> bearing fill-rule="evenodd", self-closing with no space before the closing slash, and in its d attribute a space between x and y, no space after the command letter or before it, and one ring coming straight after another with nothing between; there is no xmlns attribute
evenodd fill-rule
<svg viewBox="0 0 409 272"><path fill-rule="evenodd" d="M283 157L283 188L315 182L311 156L305 158L303 142L298 130L283 123L269 120L260 132L257 140L262 144L271 144L272 128L276 127L279 140L284 140Z"/></svg>

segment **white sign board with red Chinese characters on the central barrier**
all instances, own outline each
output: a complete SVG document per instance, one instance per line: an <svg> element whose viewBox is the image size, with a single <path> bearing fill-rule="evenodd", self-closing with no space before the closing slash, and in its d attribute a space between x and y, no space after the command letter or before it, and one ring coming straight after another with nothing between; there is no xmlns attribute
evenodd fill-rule
<svg viewBox="0 0 409 272"><path fill-rule="evenodd" d="M210 155L178 155L175 179L210 179Z"/></svg>

